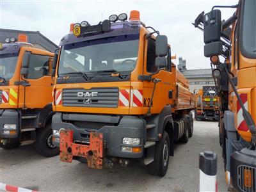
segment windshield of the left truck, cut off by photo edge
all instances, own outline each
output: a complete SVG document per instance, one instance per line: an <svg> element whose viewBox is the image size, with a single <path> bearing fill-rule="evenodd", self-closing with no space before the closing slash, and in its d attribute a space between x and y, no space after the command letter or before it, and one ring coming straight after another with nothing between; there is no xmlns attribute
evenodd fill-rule
<svg viewBox="0 0 256 192"><path fill-rule="evenodd" d="M15 72L18 53L0 54L0 78L10 80Z"/></svg>

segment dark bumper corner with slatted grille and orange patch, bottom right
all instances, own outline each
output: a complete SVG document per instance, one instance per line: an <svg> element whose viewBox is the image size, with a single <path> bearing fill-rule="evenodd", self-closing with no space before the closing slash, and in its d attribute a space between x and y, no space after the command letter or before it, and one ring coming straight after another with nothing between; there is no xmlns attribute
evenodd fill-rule
<svg viewBox="0 0 256 192"><path fill-rule="evenodd" d="M256 150L234 152L230 164L232 186L238 191L256 191Z"/></svg>

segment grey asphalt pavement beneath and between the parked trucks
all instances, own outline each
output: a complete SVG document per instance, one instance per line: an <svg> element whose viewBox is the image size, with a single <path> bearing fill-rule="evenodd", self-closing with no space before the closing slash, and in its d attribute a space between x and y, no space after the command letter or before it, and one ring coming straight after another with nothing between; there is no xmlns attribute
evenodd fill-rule
<svg viewBox="0 0 256 192"><path fill-rule="evenodd" d="M165 177L148 175L134 161L126 168L92 170L84 163L63 163L59 157L38 155L33 145L0 149L0 182L39 191L198 191L199 152L218 154L218 191L227 191L217 122L194 122L188 143L177 143Z"/></svg>

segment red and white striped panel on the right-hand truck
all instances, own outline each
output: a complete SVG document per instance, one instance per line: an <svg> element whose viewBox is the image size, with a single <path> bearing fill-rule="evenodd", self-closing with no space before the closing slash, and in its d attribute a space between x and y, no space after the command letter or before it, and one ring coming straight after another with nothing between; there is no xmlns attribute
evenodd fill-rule
<svg viewBox="0 0 256 192"><path fill-rule="evenodd" d="M241 100L244 104L244 108L248 110L248 99L247 99L247 93L241 93L240 94ZM243 117L243 109L241 108L241 105L239 104L237 100L237 129L239 131L248 131L248 126L244 120Z"/></svg>

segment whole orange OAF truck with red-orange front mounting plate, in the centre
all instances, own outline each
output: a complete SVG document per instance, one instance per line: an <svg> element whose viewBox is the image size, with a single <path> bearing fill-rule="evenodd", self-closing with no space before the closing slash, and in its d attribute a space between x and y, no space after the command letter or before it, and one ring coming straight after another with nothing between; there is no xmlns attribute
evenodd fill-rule
<svg viewBox="0 0 256 192"><path fill-rule="evenodd" d="M53 64L52 127L61 161L102 168L140 159L149 173L165 175L174 142L193 134L195 105L167 37L145 26L138 11L128 21L124 13L70 28Z"/></svg>

